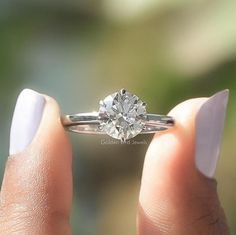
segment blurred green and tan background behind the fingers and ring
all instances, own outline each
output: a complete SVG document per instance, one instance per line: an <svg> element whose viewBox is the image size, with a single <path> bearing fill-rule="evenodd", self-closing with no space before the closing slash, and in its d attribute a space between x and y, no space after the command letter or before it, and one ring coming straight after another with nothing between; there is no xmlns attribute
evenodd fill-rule
<svg viewBox="0 0 236 235"><path fill-rule="evenodd" d="M123 87L157 113L229 88L216 177L236 234L235 12L235 0L1 0L0 178L15 100L25 87L55 97L64 113L97 110L100 98ZM71 140L74 234L135 234L151 136L137 137L136 145Z"/></svg>

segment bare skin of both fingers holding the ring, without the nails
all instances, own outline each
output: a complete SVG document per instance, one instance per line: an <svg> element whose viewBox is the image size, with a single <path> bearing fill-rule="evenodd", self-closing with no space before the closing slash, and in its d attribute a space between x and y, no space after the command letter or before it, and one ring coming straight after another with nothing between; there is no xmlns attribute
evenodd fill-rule
<svg viewBox="0 0 236 235"><path fill-rule="evenodd" d="M46 100L34 140L6 163L0 194L3 235L71 234L72 149L56 101ZM176 126L154 136L143 167L138 235L230 234L216 181L194 163L195 116L205 101L179 104L170 112Z"/></svg>

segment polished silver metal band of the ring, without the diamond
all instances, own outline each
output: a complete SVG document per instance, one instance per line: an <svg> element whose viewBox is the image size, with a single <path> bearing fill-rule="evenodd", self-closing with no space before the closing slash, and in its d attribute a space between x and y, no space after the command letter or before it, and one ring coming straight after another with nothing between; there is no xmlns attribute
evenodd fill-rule
<svg viewBox="0 0 236 235"><path fill-rule="evenodd" d="M102 119L98 112L79 113L62 117L62 123L69 131L84 134L105 134L99 128L101 121ZM145 126L140 134L167 130L174 126L175 121L170 116L147 114L144 123Z"/></svg>

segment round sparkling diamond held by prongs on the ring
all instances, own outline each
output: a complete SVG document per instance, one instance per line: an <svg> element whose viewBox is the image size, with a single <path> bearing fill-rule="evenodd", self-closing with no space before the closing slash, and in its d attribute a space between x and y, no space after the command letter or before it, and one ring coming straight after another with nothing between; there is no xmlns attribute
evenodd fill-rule
<svg viewBox="0 0 236 235"><path fill-rule="evenodd" d="M100 128L109 136L126 141L144 128L146 104L122 89L100 101Z"/></svg>

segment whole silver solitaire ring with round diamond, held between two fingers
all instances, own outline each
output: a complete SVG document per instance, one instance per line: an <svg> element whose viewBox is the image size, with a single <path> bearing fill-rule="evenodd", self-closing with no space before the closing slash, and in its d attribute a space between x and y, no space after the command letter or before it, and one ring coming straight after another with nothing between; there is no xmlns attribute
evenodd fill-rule
<svg viewBox="0 0 236 235"><path fill-rule="evenodd" d="M125 142L138 134L164 131L174 126L170 116L149 114L146 103L121 89L100 101L98 112L78 113L62 117L69 131L85 134L107 134Z"/></svg>

